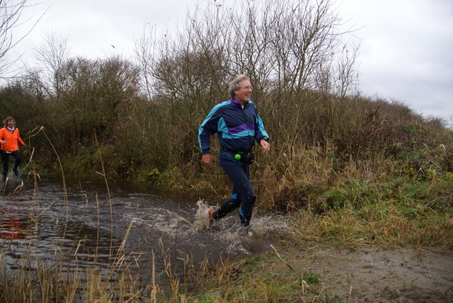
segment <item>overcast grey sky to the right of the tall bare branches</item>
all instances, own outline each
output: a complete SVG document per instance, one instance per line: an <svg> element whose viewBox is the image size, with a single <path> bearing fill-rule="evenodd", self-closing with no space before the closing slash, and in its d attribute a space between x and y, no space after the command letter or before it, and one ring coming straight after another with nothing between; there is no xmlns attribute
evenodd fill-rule
<svg viewBox="0 0 453 303"><path fill-rule="evenodd" d="M403 101L424 116L453 115L453 1L343 0L362 27L362 92Z"/></svg>

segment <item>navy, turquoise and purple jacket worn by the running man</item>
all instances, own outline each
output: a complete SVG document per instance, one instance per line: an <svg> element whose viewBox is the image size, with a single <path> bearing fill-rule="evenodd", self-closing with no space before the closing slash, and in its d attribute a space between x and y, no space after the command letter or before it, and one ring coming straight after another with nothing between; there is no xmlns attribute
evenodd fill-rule
<svg viewBox="0 0 453 303"><path fill-rule="evenodd" d="M251 151L255 142L259 144L261 139L269 139L255 104L248 101L242 108L241 103L234 98L215 105L200 125L198 142L202 154L210 154L210 137L216 132L220 147L234 152ZM220 164L244 165L228 151L220 150Z"/></svg>

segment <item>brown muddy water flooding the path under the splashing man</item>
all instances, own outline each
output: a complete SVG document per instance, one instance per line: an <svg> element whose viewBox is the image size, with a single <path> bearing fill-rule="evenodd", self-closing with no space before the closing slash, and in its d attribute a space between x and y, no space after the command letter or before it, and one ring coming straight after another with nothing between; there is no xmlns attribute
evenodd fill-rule
<svg viewBox="0 0 453 303"><path fill-rule="evenodd" d="M287 227L282 218L254 214L251 232L244 234L232 212L207 228L205 210L222 201L97 179L10 177L1 193L0 247L11 268L31 253L48 263L58 255L65 270L108 267L120 256L149 270L154 253L162 273L170 258L197 263L267 251Z"/></svg>

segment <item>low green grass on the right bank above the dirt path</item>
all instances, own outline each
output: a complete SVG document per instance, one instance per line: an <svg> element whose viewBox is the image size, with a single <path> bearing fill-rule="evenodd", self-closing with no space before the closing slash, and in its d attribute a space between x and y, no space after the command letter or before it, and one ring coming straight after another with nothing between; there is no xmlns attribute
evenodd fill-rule
<svg viewBox="0 0 453 303"><path fill-rule="evenodd" d="M294 237L350 246L453 247L452 184L445 176L428 182L336 183L314 207L293 215Z"/></svg>

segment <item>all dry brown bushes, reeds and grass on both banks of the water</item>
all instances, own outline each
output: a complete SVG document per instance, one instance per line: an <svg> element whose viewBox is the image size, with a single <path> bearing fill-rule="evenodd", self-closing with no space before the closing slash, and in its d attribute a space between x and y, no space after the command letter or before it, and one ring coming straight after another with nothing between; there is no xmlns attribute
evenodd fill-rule
<svg viewBox="0 0 453 303"><path fill-rule="evenodd" d="M200 165L197 130L210 108L226 100L231 76L243 73L251 76L272 144L266 156L257 151L252 167L258 207L292 218L287 239L294 246L453 247L447 122L357 92L357 47L343 42L331 1L256 2L199 7L172 35L149 28L137 40L134 62L69 57L64 38L47 37L36 50L41 65L0 88L1 113L16 118L31 170L105 171L116 180L226 195L221 168ZM24 267L5 275L2 269L4 302L196 297L171 277L163 295L156 285L137 290L127 268L122 284L111 286L96 270L62 277L58 261L52 269L33 262L33 273ZM236 266L222 263L214 271L200 265L194 288L219 287ZM276 301L268 280L240 287L250 287L255 302ZM231 298L199 302L235 302Z"/></svg>

